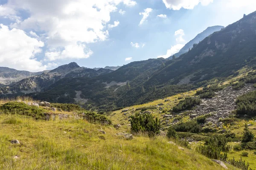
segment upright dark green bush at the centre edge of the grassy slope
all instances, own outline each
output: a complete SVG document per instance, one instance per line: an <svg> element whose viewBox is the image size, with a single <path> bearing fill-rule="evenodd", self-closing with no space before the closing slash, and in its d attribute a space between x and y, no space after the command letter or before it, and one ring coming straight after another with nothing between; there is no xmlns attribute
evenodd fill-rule
<svg viewBox="0 0 256 170"><path fill-rule="evenodd" d="M150 113L135 113L131 116L131 132L132 133L148 133L149 137L153 137L160 133L160 120Z"/></svg>

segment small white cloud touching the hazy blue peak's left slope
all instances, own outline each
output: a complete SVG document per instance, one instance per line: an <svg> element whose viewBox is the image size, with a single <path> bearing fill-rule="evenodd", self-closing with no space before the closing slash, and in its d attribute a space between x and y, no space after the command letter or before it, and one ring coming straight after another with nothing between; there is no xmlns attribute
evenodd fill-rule
<svg viewBox="0 0 256 170"><path fill-rule="evenodd" d="M174 35L177 37L176 38L176 45L171 46L170 49L167 50L165 55L160 55L157 58L168 58L171 57L173 54L176 54L177 52L180 51L181 48L183 48L185 45L181 44L182 42L185 42L185 40L183 39L183 36L185 35L184 30L183 29L178 29L177 31L175 31Z"/></svg>

